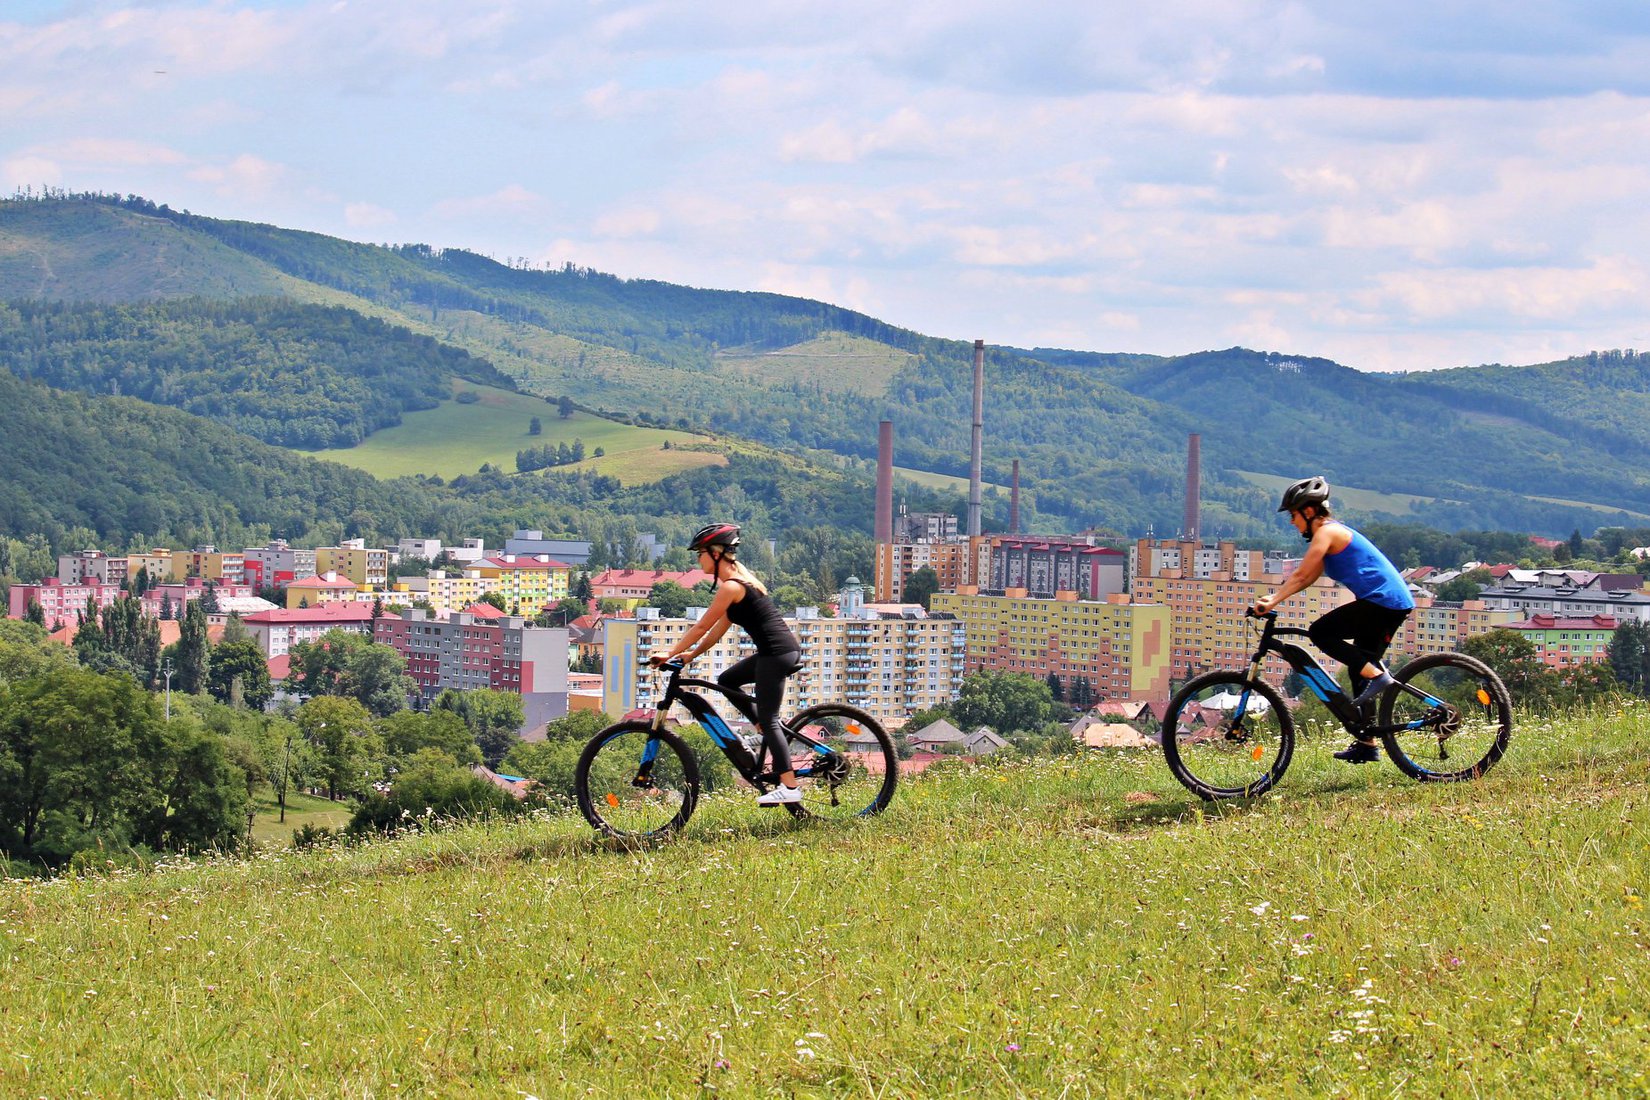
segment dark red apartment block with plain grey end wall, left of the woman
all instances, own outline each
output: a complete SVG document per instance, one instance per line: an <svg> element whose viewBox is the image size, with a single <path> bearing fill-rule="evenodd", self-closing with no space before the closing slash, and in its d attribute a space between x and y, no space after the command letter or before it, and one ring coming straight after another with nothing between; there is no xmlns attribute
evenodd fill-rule
<svg viewBox="0 0 1650 1100"><path fill-rule="evenodd" d="M568 632L533 627L507 615L459 612L441 618L422 610L383 615L373 638L408 658L422 706L442 691L492 688L521 696L525 737L568 712Z"/></svg>

